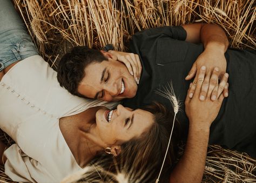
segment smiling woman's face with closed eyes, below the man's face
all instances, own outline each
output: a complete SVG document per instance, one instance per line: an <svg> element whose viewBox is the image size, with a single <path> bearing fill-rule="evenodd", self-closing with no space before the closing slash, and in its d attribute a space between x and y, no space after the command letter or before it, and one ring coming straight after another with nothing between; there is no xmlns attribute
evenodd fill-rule
<svg viewBox="0 0 256 183"><path fill-rule="evenodd" d="M118 105L116 110L100 109L96 113L96 128L107 145L124 143L139 137L154 123L154 116L141 109Z"/></svg>

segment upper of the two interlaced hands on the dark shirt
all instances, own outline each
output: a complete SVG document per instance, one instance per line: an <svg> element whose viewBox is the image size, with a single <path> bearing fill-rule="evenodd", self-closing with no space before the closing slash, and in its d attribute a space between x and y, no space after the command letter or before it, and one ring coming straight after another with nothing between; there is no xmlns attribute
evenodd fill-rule
<svg viewBox="0 0 256 183"><path fill-rule="evenodd" d="M185 78L186 80L190 80L194 76L196 76L194 77L193 84L190 88L190 93L189 93L190 98L193 97L193 94L197 85L199 71L201 66L203 65L205 65L207 69L205 72L204 83L200 91L200 100L202 101L205 100L206 98L208 84L210 81L211 74L214 72L213 71L214 67L218 67L219 69L218 70L219 77L217 78L217 80L221 79L224 76L224 73L226 72L227 62L226 62L224 53L219 51L218 49L214 49L214 48L206 49L203 53L201 53L201 55L197 58L196 62L194 62L192 69L188 73L187 77ZM215 80L213 80L213 82L215 82ZM221 87L221 89L223 90L224 96L227 97L228 96L227 86L225 87L225 85L224 86L220 85L219 87ZM217 99L216 92L213 92L211 96L211 100L215 100L215 99Z"/></svg>

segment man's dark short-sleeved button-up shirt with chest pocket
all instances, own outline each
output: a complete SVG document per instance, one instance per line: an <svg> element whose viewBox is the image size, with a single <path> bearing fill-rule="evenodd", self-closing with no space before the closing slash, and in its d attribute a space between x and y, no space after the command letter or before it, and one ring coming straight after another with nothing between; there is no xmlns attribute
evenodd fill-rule
<svg viewBox="0 0 256 183"><path fill-rule="evenodd" d="M130 42L130 51L142 60L142 76L134 98L123 104L133 109L158 101L172 110L170 102L156 93L172 82L181 101L178 120L187 133L185 98L189 84L185 77L192 64L204 51L203 44L185 42L186 31L181 26L164 26L136 33ZM247 152L256 157L256 54L238 49L225 53L229 96L224 99L217 118L211 125L210 144Z"/></svg>

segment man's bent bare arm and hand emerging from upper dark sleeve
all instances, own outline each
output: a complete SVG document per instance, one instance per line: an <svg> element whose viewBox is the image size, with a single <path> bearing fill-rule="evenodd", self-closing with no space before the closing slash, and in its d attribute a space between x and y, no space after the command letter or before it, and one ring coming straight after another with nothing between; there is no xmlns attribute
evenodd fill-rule
<svg viewBox="0 0 256 183"><path fill-rule="evenodd" d="M186 41L192 43L203 43L204 52L194 62L190 72L188 73L186 80L190 80L194 77L194 85L192 85L190 98L193 97L194 90L196 88L196 81L198 78L198 70L201 66L207 67L205 80L208 81L211 76L211 72L214 67L219 68L220 77L226 72L227 62L224 56L228 48L228 39L226 33L218 25L213 24L187 24L183 25L183 28L187 32ZM207 83L207 82L206 82ZM206 98L208 86L203 84L200 100ZM228 95L227 87L224 89L223 94L225 97ZM212 100L217 99L215 95L211 96Z"/></svg>

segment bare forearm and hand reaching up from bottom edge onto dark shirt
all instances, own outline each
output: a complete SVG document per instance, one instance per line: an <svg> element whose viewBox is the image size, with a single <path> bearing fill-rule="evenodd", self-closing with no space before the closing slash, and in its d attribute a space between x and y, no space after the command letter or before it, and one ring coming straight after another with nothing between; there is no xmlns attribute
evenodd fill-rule
<svg viewBox="0 0 256 183"><path fill-rule="evenodd" d="M204 101L199 100L200 90L206 76L206 67L199 70L196 90L193 98L188 94L185 101L186 114L190 120L185 151L178 164L170 175L170 182L201 182L204 173L207 154L208 138L212 121L217 117L224 96L218 87L218 69L214 69L210 78L208 93ZM227 84L227 76L223 77L219 86L223 88ZM192 85L192 83L191 83ZM190 92L188 90L188 93ZM217 99L210 99L213 92L217 93Z"/></svg>

